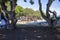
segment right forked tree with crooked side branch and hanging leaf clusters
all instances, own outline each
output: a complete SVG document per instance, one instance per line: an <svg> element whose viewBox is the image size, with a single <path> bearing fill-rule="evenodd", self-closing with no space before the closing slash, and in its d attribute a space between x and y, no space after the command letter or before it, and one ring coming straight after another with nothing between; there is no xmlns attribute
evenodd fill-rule
<svg viewBox="0 0 60 40"><path fill-rule="evenodd" d="M24 1L27 2L27 0L24 0ZM52 3L53 3L55 0L48 0L48 3L47 3L47 5L46 5L46 15L43 13L41 0L37 0L37 1L38 1L38 4L39 4L39 11L40 11L40 13L41 13L41 16L48 22L48 24L49 24L50 27L54 26L54 25L53 25L54 21L53 21L53 23L52 23L49 13L52 13L52 14L55 15L55 17L56 17L56 11L52 12L52 11L50 10L50 7L51 7ZM58 0L58 1L60 1L60 0ZM31 3L31 4L34 4L34 1L33 1L33 0L30 0L30 3Z"/></svg>

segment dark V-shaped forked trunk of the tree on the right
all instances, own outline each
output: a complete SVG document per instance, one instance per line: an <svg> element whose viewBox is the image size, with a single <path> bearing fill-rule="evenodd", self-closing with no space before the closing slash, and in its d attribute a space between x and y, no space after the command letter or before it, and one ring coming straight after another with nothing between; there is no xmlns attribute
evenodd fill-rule
<svg viewBox="0 0 60 40"><path fill-rule="evenodd" d="M54 0L48 0L47 3L47 7L46 7L46 16L44 15L43 11L42 11L42 4L41 4L41 0L38 0L39 3L39 10L41 12L42 17L49 23L49 26L52 27L53 24L51 23L51 19L50 19L50 14L49 14L49 8L51 6L51 4L53 3Z"/></svg>

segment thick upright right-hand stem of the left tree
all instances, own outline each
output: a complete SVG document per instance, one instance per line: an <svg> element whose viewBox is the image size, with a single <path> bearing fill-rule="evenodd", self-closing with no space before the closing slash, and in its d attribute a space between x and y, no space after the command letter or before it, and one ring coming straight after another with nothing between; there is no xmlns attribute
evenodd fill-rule
<svg viewBox="0 0 60 40"><path fill-rule="evenodd" d="M12 27L14 27L14 28L16 28L16 22L17 22L17 20L16 20L16 18L15 18L15 6L16 6L16 1L17 0L12 0L12 1L10 1L10 5L11 5L11 12L10 12L10 16L11 16L11 25L12 25Z"/></svg>

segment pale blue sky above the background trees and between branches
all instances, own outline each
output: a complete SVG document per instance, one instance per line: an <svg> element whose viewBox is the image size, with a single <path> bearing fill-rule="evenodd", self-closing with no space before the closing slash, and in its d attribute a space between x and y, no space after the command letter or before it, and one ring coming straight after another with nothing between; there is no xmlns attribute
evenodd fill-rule
<svg viewBox="0 0 60 40"><path fill-rule="evenodd" d="M17 5L22 6L23 8L32 8L33 10L39 10L39 5L38 5L38 0L33 0L34 4L31 5L29 3L29 0L27 2L24 2L23 0L18 0ZM46 11L46 4L48 3L48 0L41 0L42 3L42 10L45 12ZM58 0L55 0L51 7L51 11L56 11L57 15L60 15L60 2Z"/></svg>

